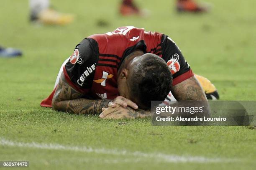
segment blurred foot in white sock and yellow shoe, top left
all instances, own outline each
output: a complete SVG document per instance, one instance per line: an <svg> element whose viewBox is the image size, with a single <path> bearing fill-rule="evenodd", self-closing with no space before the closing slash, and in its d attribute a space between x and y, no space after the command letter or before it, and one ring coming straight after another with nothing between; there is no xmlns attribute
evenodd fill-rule
<svg viewBox="0 0 256 170"><path fill-rule="evenodd" d="M66 25L74 19L71 14L59 13L50 8L49 0L30 0L30 21L47 25Z"/></svg>

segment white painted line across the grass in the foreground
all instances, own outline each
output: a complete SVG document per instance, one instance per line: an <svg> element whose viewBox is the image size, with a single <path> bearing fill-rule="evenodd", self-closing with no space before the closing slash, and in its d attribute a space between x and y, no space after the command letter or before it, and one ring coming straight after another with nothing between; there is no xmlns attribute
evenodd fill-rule
<svg viewBox="0 0 256 170"><path fill-rule="evenodd" d="M28 148L37 148L45 150L68 150L75 152L85 152L85 153L96 153L96 154L107 154L107 155L123 155L123 156L132 156L136 158L145 158L154 159L160 162L195 162L195 163L208 163L208 162L233 162L234 159L225 159L225 158L207 158L207 157L194 157L194 156L179 156L179 155L168 155L163 153L143 153L143 152L131 152L126 150L117 150L117 149L97 149L92 147L79 147L79 146L67 146L60 144L52 143L24 143L24 142L14 142L11 140L5 140L0 138L0 145L3 146L13 146L13 147L28 147Z"/></svg>

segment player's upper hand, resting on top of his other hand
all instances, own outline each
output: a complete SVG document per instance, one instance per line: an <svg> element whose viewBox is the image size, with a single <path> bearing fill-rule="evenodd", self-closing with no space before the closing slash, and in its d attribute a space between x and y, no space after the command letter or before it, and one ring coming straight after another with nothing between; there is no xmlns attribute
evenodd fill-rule
<svg viewBox="0 0 256 170"><path fill-rule="evenodd" d="M138 105L134 103L133 101L126 99L123 96L117 96L113 101L110 101L108 103L108 107L117 107L118 105L123 107L131 107L133 109L138 109ZM102 111L104 111L106 108L102 108Z"/></svg>

